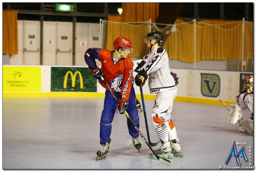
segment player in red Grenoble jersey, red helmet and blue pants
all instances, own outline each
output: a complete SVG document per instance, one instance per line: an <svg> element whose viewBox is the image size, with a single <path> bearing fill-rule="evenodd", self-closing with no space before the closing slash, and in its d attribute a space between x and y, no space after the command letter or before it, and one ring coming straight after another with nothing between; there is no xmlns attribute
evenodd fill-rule
<svg viewBox="0 0 256 172"><path fill-rule="evenodd" d="M114 41L114 51L108 51L101 48L89 48L85 52L85 62L88 65L88 71L99 80L100 85L106 89L104 99L104 109L100 119L100 145L102 148L97 152L96 160L106 158L111 145L111 123L114 119L116 107L120 114L128 112L132 121L139 128L139 116L136 107L135 90L132 85L133 65L128 54L132 53L133 46L126 37L118 37ZM98 59L102 67L96 65L95 59ZM100 77L104 77L106 83L111 87L114 95L119 99L120 104L114 99L111 92L107 89ZM130 120L127 119L131 142L140 152L142 142L138 138L139 134ZM130 142L130 143L131 143Z"/></svg>

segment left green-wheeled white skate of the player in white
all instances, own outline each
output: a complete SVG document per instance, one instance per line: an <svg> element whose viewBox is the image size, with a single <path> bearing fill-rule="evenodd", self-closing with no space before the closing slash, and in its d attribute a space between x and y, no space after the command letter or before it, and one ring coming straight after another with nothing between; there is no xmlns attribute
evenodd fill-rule
<svg viewBox="0 0 256 172"><path fill-rule="evenodd" d="M169 158L173 158L173 153L171 153L171 144L169 141L167 142L162 142L161 141L161 144L160 144L160 147L155 150L155 153L161 157L161 158L164 158L164 159L167 159L168 157ZM153 155L153 158L154 159L157 159L155 155Z"/></svg>

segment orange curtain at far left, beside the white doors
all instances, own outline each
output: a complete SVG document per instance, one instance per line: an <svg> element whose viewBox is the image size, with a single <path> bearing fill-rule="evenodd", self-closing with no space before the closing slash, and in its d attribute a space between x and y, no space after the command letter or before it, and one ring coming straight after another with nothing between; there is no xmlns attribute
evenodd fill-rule
<svg viewBox="0 0 256 172"><path fill-rule="evenodd" d="M3 10L3 54L18 54L18 11Z"/></svg>

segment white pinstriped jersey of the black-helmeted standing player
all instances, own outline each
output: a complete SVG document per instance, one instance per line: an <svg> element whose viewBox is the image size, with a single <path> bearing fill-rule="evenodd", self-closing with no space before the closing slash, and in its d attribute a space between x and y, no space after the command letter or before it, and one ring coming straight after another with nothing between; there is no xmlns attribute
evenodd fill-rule
<svg viewBox="0 0 256 172"><path fill-rule="evenodd" d="M155 48L146 54L143 60L133 62L133 71L144 70L148 75L150 94L176 89L175 81L170 73L169 58L165 49Z"/></svg>

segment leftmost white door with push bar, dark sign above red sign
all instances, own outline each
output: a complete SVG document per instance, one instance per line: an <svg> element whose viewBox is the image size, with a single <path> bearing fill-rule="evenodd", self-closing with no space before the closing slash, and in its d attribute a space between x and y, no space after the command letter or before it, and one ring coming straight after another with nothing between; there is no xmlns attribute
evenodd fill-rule
<svg viewBox="0 0 256 172"><path fill-rule="evenodd" d="M24 21L24 65L40 65L40 22Z"/></svg>

